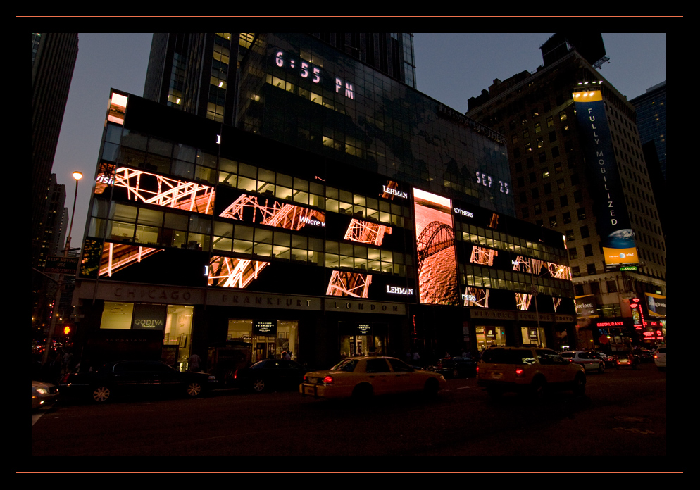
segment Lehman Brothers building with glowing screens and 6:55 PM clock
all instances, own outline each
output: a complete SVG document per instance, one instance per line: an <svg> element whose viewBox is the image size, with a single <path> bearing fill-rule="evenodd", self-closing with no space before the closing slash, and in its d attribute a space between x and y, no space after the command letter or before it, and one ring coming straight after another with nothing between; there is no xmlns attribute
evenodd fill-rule
<svg viewBox="0 0 700 490"><path fill-rule="evenodd" d="M563 235L513 216L501 134L313 36L254 39L238 127L113 90L84 356L195 352L220 372L570 344Z"/></svg>

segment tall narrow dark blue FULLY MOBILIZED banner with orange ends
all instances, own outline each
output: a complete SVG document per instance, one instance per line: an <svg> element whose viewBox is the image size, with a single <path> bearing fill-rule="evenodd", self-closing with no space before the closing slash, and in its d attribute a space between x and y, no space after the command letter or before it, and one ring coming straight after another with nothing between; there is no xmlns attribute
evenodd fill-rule
<svg viewBox="0 0 700 490"><path fill-rule="evenodd" d="M575 92L573 99L585 157L592 170L594 214L606 265L639 263L635 233L618 175L605 105L600 91Z"/></svg>

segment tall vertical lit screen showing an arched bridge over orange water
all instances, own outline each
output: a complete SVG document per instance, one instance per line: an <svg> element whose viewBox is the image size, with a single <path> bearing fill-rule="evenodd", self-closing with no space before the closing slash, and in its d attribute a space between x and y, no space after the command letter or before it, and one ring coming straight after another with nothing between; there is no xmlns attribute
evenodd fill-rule
<svg viewBox="0 0 700 490"><path fill-rule="evenodd" d="M415 246L418 253L418 292L421 303L458 305L457 260L452 202L413 189Z"/></svg>

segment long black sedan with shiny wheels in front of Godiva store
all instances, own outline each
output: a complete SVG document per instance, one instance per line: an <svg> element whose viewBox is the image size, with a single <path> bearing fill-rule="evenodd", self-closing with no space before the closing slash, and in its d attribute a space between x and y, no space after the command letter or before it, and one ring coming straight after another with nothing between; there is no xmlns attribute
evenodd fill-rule
<svg viewBox="0 0 700 490"><path fill-rule="evenodd" d="M174 392L194 398L215 386L216 377L207 372L177 371L156 360L120 360L93 371L64 375L58 383L58 392L105 403L128 393L154 395Z"/></svg>

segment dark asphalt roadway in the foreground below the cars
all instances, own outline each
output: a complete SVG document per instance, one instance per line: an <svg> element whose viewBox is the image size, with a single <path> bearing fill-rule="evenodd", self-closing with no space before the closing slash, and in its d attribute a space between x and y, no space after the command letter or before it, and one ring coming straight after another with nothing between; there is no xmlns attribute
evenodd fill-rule
<svg viewBox="0 0 700 490"><path fill-rule="evenodd" d="M237 389L196 400L139 398L104 406L59 401L35 415L32 441L34 456L665 456L666 373L653 364L591 373L584 398L563 392L542 403L515 395L492 401L475 379L451 379L435 399L386 396L363 404L304 398L294 391L252 394ZM285 461L280 470L327 469L308 461L292 468ZM373 461L370 467L379 464ZM449 467L451 460L444 465L425 461L415 466L411 459L411 466L400 467L403 460L392 459L392 465L401 471L480 470L464 460L459 468ZM606 460L606 467L528 464L532 470L633 471L649 460L637 462L625 467L613 459ZM75 464L70 470L99 469ZM134 464L128 469L148 465L154 470L143 459ZM196 470L272 471L277 464L246 458L246 467L230 463ZM649 470L660 470L659 465L663 463ZM506 469L487 463L481 470Z"/></svg>

